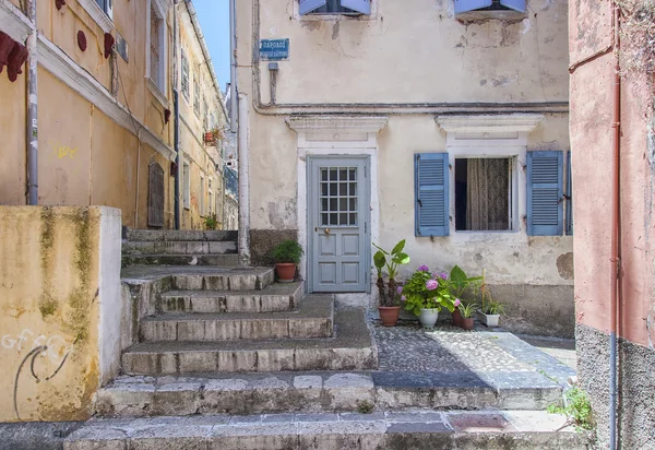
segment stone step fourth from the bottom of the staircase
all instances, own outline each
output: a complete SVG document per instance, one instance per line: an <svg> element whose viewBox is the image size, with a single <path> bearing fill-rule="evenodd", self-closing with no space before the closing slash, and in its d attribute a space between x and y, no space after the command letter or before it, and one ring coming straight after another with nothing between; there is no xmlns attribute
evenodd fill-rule
<svg viewBox="0 0 655 450"><path fill-rule="evenodd" d="M295 311L159 315L141 320L141 341L312 339L332 335L333 299L309 296Z"/></svg>

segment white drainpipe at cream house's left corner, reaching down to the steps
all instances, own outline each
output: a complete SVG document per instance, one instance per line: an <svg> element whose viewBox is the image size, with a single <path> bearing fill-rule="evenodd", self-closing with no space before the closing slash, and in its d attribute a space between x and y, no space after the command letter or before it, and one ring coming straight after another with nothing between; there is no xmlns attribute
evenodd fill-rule
<svg viewBox="0 0 655 450"><path fill-rule="evenodd" d="M239 94L239 260L250 265L250 192L248 182L248 95Z"/></svg>

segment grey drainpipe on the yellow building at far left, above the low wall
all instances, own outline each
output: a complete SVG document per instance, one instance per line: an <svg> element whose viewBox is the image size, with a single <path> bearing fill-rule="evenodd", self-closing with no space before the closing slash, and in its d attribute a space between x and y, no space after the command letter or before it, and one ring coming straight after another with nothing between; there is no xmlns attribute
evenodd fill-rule
<svg viewBox="0 0 655 450"><path fill-rule="evenodd" d="M38 204L38 116L37 116L37 61L36 45L38 28L36 27L36 0L27 3L27 15L32 21L32 31L27 37L27 204Z"/></svg>

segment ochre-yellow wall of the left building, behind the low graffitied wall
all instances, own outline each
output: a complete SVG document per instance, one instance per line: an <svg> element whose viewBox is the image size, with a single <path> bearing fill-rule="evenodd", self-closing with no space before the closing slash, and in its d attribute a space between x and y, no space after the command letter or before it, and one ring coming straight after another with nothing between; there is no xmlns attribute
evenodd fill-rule
<svg viewBox="0 0 655 450"><path fill-rule="evenodd" d="M153 0L154 1L154 0ZM17 4L17 2L14 2ZM172 110L172 9L167 16L167 102L162 104L148 88L146 74L147 2L115 0L115 29L126 39L129 61L116 55L106 59L104 32L76 1L69 0L60 11L55 2L38 2L38 28L95 78L120 105L134 116L131 127L111 120L95 105L64 84L56 73L38 69L38 146L39 204L109 205L122 210L124 225L147 227L148 165L156 162L165 174L165 227L174 226L174 177L170 162L154 149L139 142L139 129L145 125L169 147L174 147L174 117L165 123L165 109ZM2 29L2 26L0 26ZM87 48L78 46L78 33L86 36ZM191 37L195 35L192 34ZM190 37L190 38L191 38ZM196 45L196 43L192 43ZM200 46L198 46L200 48ZM23 71L26 71L24 67ZM205 68L205 71L209 71ZM25 204L25 73L10 83L0 74L0 204ZM209 78L207 78L209 81ZM209 97L209 96L207 96ZM225 119L223 119L225 122ZM198 127L194 123L194 127ZM198 138L201 132L198 129ZM195 158L194 158L195 159ZM198 159L201 159L200 157ZM217 178L213 164L200 161L206 177ZM195 170L200 174L200 169ZM200 176L192 179L199 192ZM213 185L218 185L213 182ZM193 227L198 227L196 216ZM183 223L187 227L192 224Z"/></svg>

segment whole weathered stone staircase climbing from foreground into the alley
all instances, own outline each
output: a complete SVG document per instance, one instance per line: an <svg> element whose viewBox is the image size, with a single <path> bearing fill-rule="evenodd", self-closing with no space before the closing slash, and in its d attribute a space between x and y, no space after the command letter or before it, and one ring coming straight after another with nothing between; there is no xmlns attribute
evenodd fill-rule
<svg viewBox="0 0 655 450"><path fill-rule="evenodd" d="M274 283L270 268L187 259L229 257L202 251L233 251L234 240L128 233L133 344L64 449L586 448L544 411L561 395L557 382L380 371L361 309ZM187 262L162 265L176 258Z"/></svg>

